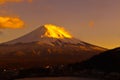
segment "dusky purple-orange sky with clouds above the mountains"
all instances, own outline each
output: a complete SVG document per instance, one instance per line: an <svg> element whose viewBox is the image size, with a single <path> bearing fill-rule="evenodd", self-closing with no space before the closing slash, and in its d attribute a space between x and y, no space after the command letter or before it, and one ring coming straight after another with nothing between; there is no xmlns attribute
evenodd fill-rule
<svg viewBox="0 0 120 80"><path fill-rule="evenodd" d="M0 0L0 43L44 24L62 26L82 41L115 48L120 46L120 0Z"/></svg>

